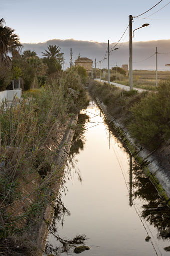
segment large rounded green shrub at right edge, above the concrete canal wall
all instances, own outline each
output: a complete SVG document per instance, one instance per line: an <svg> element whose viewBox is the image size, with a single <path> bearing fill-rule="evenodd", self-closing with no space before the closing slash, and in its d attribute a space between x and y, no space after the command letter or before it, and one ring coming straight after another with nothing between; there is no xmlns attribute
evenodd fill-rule
<svg viewBox="0 0 170 256"><path fill-rule="evenodd" d="M159 84L157 93L150 93L130 108L133 119L129 130L140 143L154 149L170 138L170 82Z"/></svg>

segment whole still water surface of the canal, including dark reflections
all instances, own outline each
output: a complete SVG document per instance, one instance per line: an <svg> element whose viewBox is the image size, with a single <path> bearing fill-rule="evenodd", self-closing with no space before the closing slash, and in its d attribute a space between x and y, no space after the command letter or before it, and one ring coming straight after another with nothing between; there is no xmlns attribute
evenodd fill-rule
<svg viewBox="0 0 170 256"><path fill-rule="evenodd" d="M81 255L170 254L159 235L169 209L154 210L162 200L95 101L81 114L89 120L71 148L44 255L75 255L78 235L90 247Z"/></svg>

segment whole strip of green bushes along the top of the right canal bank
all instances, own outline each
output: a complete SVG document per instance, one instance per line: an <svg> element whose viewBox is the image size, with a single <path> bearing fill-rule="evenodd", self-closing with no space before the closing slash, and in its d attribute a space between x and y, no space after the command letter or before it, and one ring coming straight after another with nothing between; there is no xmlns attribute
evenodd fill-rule
<svg viewBox="0 0 170 256"><path fill-rule="evenodd" d="M108 113L125 125L136 142L154 150L170 138L170 81L157 92L125 91L107 83L91 83L90 90L107 106Z"/></svg>

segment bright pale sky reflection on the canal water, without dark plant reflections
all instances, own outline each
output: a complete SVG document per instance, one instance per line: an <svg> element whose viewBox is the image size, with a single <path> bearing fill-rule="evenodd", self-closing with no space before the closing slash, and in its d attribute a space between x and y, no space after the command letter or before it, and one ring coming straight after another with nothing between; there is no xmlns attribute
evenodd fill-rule
<svg viewBox="0 0 170 256"><path fill-rule="evenodd" d="M100 117L100 110L96 110L94 102L90 103L86 111L90 117L90 122L86 125L86 142L84 150L75 157L82 183L74 172L72 179L67 181L69 192L62 200L71 216L65 216L63 227L58 226L60 236L73 238L77 234L85 234L89 238L85 244L90 246L91 250L82 252L82 255L167 254L163 247L168 246L169 240L158 240L157 229L141 217L141 207L143 204L147 205L143 197L147 196L137 194L138 187L141 186L138 183L144 182L144 185L147 179L142 176L142 171L135 167L134 172L142 177L133 177L135 186L132 186L131 193L136 193L136 199L132 196L133 206L130 207L129 154L111 132L109 149L108 126L104 125L103 116ZM152 186L148 185L146 189L148 193L156 195L152 192ZM157 195L151 200L158 200ZM149 242L145 241L147 235L151 236ZM49 235L49 240L57 245L52 235ZM72 250L70 254L74 254Z"/></svg>

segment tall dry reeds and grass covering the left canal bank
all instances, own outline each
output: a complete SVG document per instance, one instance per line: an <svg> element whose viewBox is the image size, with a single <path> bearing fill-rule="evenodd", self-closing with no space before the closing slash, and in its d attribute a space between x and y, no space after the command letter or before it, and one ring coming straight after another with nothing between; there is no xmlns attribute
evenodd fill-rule
<svg viewBox="0 0 170 256"><path fill-rule="evenodd" d="M87 103L79 75L67 70L49 77L45 87L25 92L17 106L1 105L0 238L24 234L41 219L60 177L53 159L61 135Z"/></svg>

